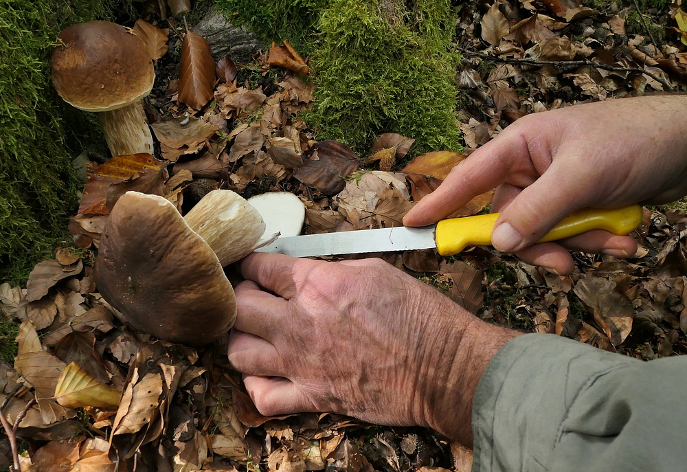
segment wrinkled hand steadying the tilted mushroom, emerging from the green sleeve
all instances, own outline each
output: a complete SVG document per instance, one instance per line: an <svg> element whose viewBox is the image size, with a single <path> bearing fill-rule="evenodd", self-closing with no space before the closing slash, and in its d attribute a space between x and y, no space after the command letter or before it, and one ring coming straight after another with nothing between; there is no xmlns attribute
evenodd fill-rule
<svg viewBox="0 0 687 472"><path fill-rule="evenodd" d="M229 362L262 414L336 412L471 444L477 382L517 333L379 259L254 253L240 270Z"/></svg>

